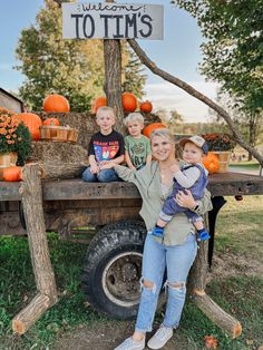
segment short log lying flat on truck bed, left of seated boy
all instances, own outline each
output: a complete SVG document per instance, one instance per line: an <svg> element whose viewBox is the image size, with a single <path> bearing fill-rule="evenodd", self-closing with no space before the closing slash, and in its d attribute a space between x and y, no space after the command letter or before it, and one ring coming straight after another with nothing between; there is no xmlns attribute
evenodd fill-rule
<svg viewBox="0 0 263 350"><path fill-rule="evenodd" d="M75 178L79 177L88 166L84 163L59 163L45 162L38 163L42 178Z"/></svg>

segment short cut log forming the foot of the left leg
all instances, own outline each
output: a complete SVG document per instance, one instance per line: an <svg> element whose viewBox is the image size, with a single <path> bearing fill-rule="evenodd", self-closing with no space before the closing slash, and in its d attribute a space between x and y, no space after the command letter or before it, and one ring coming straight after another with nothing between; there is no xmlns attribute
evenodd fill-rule
<svg viewBox="0 0 263 350"><path fill-rule="evenodd" d="M20 336L26 333L49 307L50 299L45 294L38 293L31 302L13 318L12 330Z"/></svg>

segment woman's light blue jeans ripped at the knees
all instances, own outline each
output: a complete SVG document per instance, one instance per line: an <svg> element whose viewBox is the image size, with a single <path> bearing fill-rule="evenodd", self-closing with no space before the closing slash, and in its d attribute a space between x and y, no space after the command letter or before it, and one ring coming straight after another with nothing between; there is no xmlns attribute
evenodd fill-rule
<svg viewBox="0 0 263 350"><path fill-rule="evenodd" d="M186 295L186 279L197 251L196 236L187 235L181 245L164 245L147 234L143 256L142 295L136 321L136 331L150 332L157 308L158 295L167 268L166 289L168 293L163 324L176 328L179 324ZM153 288L143 285L144 281Z"/></svg>

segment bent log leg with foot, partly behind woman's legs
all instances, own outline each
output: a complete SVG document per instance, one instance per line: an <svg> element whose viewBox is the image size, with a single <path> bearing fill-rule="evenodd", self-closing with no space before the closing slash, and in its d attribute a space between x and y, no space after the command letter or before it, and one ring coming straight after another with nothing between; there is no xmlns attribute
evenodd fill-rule
<svg viewBox="0 0 263 350"><path fill-rule="evenodd" d="M207 215L206 215L206 227ZM241 323L226 313L220 305L217 305L205 292L206 273L207 273L207 252L208 242L201 242L195 259L194 265L189 274L189 294L198 309L216 325L223 329L232 339L242 333Z"/></svg>

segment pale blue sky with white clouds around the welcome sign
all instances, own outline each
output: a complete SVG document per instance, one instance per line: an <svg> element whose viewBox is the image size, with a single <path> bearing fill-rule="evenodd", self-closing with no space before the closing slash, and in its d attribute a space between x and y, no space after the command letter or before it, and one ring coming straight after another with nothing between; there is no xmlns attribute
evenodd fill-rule
<svg viewBox="0 0 263 350"><path fill-rule="evenodd" d="M0 87L8 91L18 91L25 80L21 72L13 69L19 64L14 52L18 39L22 29L35 25L36 14L43 7L45 1L0 0ZM186 11L172 6L168 0L117 2L164 4L164 40L138 40L139 46L158 68L186 81L207 97L215 98L216 84L206 82L205 77L198 72L198 62L202 61L199 46L203 38L195 19ZM147 82L144 99L153 103L154 110L177 110L188 123L208 119L206 105L155 76L147 68L145 74Z"/></svg>

